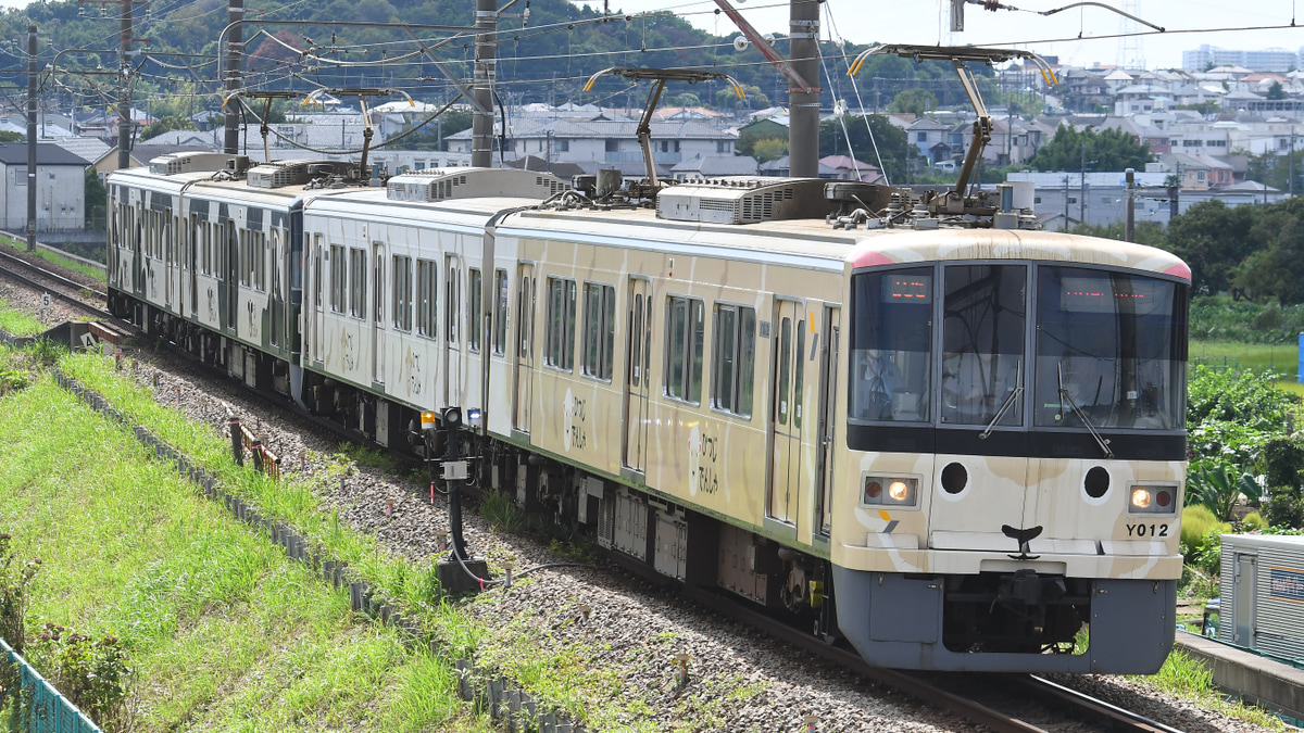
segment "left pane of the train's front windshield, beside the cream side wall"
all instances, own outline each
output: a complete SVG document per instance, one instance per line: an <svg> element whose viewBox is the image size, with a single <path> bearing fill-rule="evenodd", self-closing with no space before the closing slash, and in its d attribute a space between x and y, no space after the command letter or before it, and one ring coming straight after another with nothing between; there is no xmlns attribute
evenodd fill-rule
<svg viewBox="0 0 1304 733"><path fill-rule="evenodd" d="M852 277L852 421L931 420L932 267Z"/></svg>

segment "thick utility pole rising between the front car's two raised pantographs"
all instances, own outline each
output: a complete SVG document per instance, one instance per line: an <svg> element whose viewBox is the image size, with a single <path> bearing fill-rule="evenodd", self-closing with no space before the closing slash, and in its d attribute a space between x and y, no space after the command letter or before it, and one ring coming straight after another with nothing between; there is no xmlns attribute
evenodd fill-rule
<svg viewBox="0 0 1304 733"><path fill-rule="evenodd" d="M819 0L792 0L789 53L792 67L808 85L788 87L788 160L789 175L814 179L819 176ZM855 151L852 151L854 159Z"/></svg>

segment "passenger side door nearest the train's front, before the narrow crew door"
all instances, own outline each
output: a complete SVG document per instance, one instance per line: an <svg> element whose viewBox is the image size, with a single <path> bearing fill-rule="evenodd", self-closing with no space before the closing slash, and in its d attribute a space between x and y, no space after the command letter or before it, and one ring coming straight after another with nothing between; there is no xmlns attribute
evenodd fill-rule
<svg viewBox="0 0 1304 733"><path fill-rule="evenodd" d="M797 523L802 468L802 391L806 359L806 318L802 304L775 299L773 359L769 402L769 489L765 514L784 524Z"/></svg>

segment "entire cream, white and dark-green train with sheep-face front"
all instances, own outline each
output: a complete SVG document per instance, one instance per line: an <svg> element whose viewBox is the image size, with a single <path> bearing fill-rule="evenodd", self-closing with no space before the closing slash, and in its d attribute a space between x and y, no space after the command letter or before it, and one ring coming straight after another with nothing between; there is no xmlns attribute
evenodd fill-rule
<svg viewBox="0 0 1304 733"><path fill-rule="evenodd" d="M1176 257L859 184L245 166L110 176L116 313L396 449L481 408L486 483L871 664L1168 653Z"/></svg>

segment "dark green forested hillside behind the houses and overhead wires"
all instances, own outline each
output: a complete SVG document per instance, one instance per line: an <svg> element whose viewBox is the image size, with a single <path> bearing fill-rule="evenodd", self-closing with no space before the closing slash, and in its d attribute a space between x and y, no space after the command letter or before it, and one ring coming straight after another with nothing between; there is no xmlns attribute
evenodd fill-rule
<svg viewBox="0 0 1304 733"><path fill-rule="evenodd" d="M518 3L509 13L524 9ZM614 4L613 4L614 5ZM331 21L402 22L469 26L475 21L471 0L329 0L308 3L296 0L259 1L248 12L244 38L248 86L267 89L312 90L314 83L338 87L393 86L417 99L442 100L450 85L426 59L403 29L357 29L333 26ZM104 13L108 13L107 16ZM80 74L78 70L112 70L117 65L116 47L120 5L80 5L74 1L33 3L26 9L0 16L4 38L25 37L34 22L40 35L40 56L48 63L56 52L59 60L55 89L69 103L69 90L77 90L76 103L98 107L111 97L112 76ZM155 0L134 5L134 37L150 39L136 76L136 89L156 99L180 99L194 95L198 108L220 104L213 55L218 34L227 25L227 5L222 0ZM288 27L276 20L321 21L319 27ZM575 5L565 0L532 0L529 21L503 18L499 23L498 93L523 102L600 102L606 106L626 103L640 107L647 85L631 87L619 78L602 80L589 94L580 87L589 74L608 67L696 67L717 68L735 77L747 90L743 104L762 108L786 103L786 83L755 48L735 51L732 42L737 30L721 16L719 34L694 29L669 13L626 17L613 7L602 14L601 7ZM416 30L428 44L450 34ZM275 39L270 38L275 35ZM825 33L827 37L827 33ZM882 39L891 42L892 39ZM47 43L48 42L48 43ZM473 37L458 38L436 52L450 69L463 78L471 76ZM778 48L786 52L786 42ZM72 50L103 50L103 53ZM823 43L823 68L827 76L812 80L837 98L855 98L845 76L846 55L863 46ZM176 56L185 53L192 56ZM0 68L21 69L21 55L0 55ZM986 68L975 73L991 76ZM548 82L548 83L540 83ZM928 61L914 64L896 56L875 57L858 78L867 107L878 103L887 108L901 93L901 104L926 97L938 106L965 104L964 91L956 82L949 64ZM682 85L677 85L682 86ZM626 99L629 93L629 99ZM699 87L668 90L672 102L738 104L722 82ZM683 97L682 99L675 99ZM825 104L832 104L825 91ZM186 112L188 110L179 110ZM193 112L192 112L193 113Z"/></svg>

